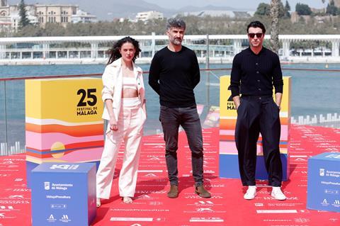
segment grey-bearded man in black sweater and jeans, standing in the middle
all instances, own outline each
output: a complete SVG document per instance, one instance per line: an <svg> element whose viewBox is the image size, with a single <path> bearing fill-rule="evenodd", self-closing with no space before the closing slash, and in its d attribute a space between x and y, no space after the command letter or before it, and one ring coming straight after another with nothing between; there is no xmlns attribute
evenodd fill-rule
<svg viewBox="0 0 340 226"><path fill-rule="evenodd" d="M162 123L166 145L166 166L170 181L167 196L179 196L177 149L179 125L186 131L191 149L191 164L195 193L203 198L211 195L203 186L203 137L197 113L193 89L200 81L198 60L193 50L183 46L186 23L179 18L170 18L166 23L169 45L159 50L149 70L149 85L159 94Z"/></svg>

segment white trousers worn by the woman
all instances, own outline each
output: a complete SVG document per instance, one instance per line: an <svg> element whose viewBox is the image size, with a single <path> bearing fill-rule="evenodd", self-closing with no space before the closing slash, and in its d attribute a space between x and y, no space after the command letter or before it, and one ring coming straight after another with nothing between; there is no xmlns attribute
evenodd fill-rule
<svg viewBox="0 0 340 226"><path fill-rule="evenodd" d="M122 106L117 122L118 130L111 131L110 125L108 125L101 163L96 176L97 198L110 198L115 162L123 140L125 150L123 165L119 174L119 195L121 197L135 196L143 124L145 123L145 117L142 114L144 112L140 105Z"/></svg>

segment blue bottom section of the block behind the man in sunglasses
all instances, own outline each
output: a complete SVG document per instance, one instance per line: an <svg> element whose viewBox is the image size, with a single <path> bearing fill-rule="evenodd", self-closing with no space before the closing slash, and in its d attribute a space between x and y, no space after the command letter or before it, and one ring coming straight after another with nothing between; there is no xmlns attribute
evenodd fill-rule
<svg viewBox="0 0 340 226"><path fill-rule="evenodd" d="M287 167L288 167L288 154L280 154L282 169L283 169L283 181L288 180ZM257 156L256 158L256 179L268 180L268 173L264 164L263 156ZM239 177L239 159L237 154L220 154L220 177L221 178L240 178Z"/></svg>

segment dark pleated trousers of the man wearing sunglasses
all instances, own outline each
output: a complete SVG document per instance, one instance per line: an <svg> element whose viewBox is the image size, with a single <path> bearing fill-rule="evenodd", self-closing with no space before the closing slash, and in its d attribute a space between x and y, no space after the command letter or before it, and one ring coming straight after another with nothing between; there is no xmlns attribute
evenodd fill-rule
<svg viewBox="0 0 340 226"><path fill-rule="evenodd" d="M239 174L244 186L255 185L256 142L262 135L268 185L281 186L279 108L272 96L242 96L237 108L235 140L239 152Z"/></svg>

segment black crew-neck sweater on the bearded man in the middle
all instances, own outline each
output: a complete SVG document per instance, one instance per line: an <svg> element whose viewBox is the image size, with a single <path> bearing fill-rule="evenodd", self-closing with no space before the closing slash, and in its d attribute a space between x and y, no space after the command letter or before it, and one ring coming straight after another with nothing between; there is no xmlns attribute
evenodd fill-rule
<svg viewBox="0 0 340 226"><path fill-rule="evenodd" d="M159 50L152 59L149 85L159 94L159 103L170 108L196 106L193 89L200 81L200 68L195 52L182 46L172 52Z"/></svg>

